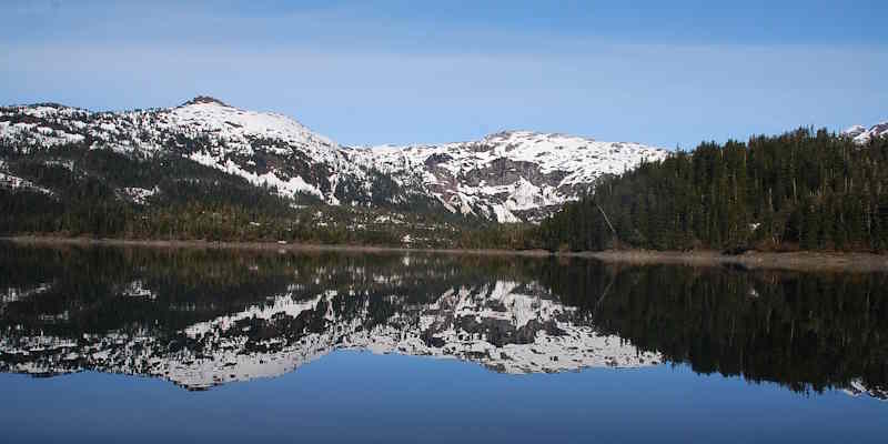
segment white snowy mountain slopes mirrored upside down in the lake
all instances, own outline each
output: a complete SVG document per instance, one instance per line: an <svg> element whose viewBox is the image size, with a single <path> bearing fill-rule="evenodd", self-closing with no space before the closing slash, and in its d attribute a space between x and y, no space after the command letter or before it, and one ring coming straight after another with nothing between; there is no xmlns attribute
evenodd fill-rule
<svg viewBox="0 0 888 444"><path fill-rule="evenodd" d="M150 297L141 283L139 297ZM147 329L75 340L0 336L0 371L56 375L97 370L162 377L189 390L279 376L336 350L477 362L502 373L637 367L663 362L616 335L601 334L575 307L517 282L461 286L431 303L389 299L401 310L371 320L369 299L300 286L172 335ZM132 292L127 293L132 296ZM344 301L359 300L356 305Z"/></svg>

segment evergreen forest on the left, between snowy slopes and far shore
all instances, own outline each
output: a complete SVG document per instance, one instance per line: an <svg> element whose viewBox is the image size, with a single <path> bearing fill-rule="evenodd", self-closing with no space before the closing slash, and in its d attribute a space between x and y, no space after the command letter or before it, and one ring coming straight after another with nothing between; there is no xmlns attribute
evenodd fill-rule
<svg viewBox="0 0 888 444"><path fill-rule="evenodd" d="M3 149L0 167L30 186L4 186L0 169L0 235L150 240L303 242L442 248L490 223L381 205L326 205L316 196L276 195L240 176L175 154L139 159L81 144L30 153ZM386 186L373 178L373 189ZM144 196L125 190L143 190Z"/></svg>

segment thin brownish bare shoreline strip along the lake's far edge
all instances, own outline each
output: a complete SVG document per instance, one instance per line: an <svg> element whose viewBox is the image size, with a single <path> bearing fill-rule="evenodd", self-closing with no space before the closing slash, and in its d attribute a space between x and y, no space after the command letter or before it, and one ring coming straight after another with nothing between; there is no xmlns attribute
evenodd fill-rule
<svg viewBox="0 0 888 444"><path fill-rule="evenodd" d="M525 258L582 258L594 259L613 264L655 265L675 264L688 266L738 265L747 269L787 271L840 271L840 272L888 272L888 255L860 252L758 252L749 251L738 255L722 254L717 251L655 251L655 250L607 250L589 252L549 252L546 250L498 250L498 249L411 249L403 246L370 245L325 245L276 242L231 242L203 240L127 240L94 238L57 236L0 236L0 241L32 245L104 245L137 246L154 249L215 249L284 252L346 252L346 253L424 253L453 255L525 256Z"/></svg>

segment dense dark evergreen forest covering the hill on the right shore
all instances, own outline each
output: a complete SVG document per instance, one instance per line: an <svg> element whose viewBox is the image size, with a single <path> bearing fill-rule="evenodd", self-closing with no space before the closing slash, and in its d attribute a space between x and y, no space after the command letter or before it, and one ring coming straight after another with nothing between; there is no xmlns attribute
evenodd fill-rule
<svg viewBox="0 0 888 444"><path fill-rule="evenodd" d="M703 143L620 176L545 220L549 250L888 249L888 138L799 129Z"/></svg>

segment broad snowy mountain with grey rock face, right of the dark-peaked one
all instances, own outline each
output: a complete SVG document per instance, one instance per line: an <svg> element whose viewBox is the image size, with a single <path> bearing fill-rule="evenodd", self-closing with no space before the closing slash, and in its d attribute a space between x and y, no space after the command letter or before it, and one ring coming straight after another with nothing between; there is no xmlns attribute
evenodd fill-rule
<svg viewBox="0 0 888 444"><path fill-rule="evenodd" d="M422 188L445 208L500 222L536 220L576 200L605 174L620 174L667 151L637 143L528 131L480 141L353 148L356 162Z"/></svg>

